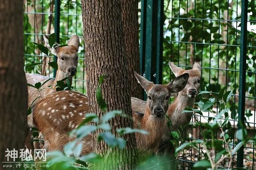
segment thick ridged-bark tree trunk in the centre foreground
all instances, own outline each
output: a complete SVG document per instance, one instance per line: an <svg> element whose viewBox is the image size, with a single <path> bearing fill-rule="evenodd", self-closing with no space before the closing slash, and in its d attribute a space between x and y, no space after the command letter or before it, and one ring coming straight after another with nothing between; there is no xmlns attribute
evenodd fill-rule
<svg viewBox="0 0 256 170"><path fill-rule="evenodd" d="M87 94L90 113L97 113L101 118L104 112L98 106L96 89L98 79L106 75L102 84L102 95L106 101L107 111L122 110L132 116L130 102L130 82L127 68L127 58L124 50L124 32L121 18L120 0L94 1L81 0L82 19L84 24L85 58L87 79ZM133 127L130 119L115 117L110 120L112 133L120 127ZM97 143L97 131L93 138L94 149L98 154L109 152L106 143ZM100 168L104 169L134 169L138 165L138 153L134 134L125 135L126 148L114 149L115 159L105 159ZM112 153L113 153L112 152ZM97 166L95 167L97 168ZM98 167L99 168L99 167Z"/></svg>

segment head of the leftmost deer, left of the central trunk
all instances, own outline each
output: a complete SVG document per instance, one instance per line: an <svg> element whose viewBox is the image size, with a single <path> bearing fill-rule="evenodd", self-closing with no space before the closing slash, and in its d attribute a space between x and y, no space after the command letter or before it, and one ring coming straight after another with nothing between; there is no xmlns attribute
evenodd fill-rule
<svg viewBox="0 0 256 170"><path fill-rule="evenodd" d="M58 57L58 70L67 73L70 76L74 76L76 74L76 67L78 63L77 51L80 43L79 37L77 35L73 35L73 37L68 41L68 46L64 47L50 47L48 37L46 35L44 35L44 42L51 53Z"/></svg>

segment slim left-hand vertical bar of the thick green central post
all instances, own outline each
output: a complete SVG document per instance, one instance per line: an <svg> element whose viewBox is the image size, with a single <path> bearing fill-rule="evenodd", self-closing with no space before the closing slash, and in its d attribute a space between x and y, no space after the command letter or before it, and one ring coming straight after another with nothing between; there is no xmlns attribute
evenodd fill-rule
<svg viewBox="0 0 256 170"><path fill-rule="evenodd" d="M145 36L146 36L146 4L147 0L141 0L140 12L140 72L145 71Z"/></svg>

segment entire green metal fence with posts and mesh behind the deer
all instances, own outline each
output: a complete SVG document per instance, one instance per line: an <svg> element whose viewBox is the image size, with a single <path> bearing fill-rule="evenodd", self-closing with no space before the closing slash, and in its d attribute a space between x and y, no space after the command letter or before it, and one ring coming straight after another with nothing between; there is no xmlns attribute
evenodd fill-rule
<svg viewBox="0 0 256 170"><path fill-rule="evenodd" d="M82 37L80 0L26 0L24 12L25 64L42 61L42 54L31 42L42 43L49 16L55 19L55 31L60 43L73 34ZM168 61L190 69L194 62L202 66L201 91L214 93L224 86L236 89L230 100L230 125L240 128L245 123L251 135L255 135L256 104L256 4L253 0L141 0L140 66L144 76L158 84L166 84L174 78ZM248 6L248 8L247 8ZM247 19L248 14L248 19ZM58 17L56 17L58 16ZM55 30L54 30L55 28ZM246 31L246 29L248 31ZM247 35L248 33L248 35ZM81 41L83 47L83 41ZM85 90L84 49L78 51L78 73L73 80L75 88ZM26 68L27 72L40 73L41 68ZM53 76L52 70L47 75ZM232 84L229 84L232 83ZM197 100L200 100L198 98ZM218 114L219 106L214 106ZM202 121L202 117L197 115ZM211 117L210 113L204 117ZM233 132L235 137L235 131ZM216 136L217 137L217 136ZM202 139L201 130L192 130L190 139ZM233 148L237 141L230 143ZM255 168L255 143L246 144L233 156L232 167ZM244 153L248 153L247 155ZM184 152L184 154L186 154ZM189 154L196 156L192 150ZM246 158L244 157L246 155ZM197 155L200 160L200 155ZM248 160L248 161L247 161ZM184 159L183 165L192 167L196 160ZM246 162L247 161L247 162ZM246 164L246 165L245 165ZM248 164L248 165L247 165ZM223 162L225 166L225 160Z"/></svg>

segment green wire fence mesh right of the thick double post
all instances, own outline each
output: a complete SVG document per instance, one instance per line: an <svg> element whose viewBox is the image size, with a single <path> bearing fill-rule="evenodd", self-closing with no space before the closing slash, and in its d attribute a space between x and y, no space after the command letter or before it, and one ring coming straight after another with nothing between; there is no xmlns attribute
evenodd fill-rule
<svg viewBox="0 0 256 170"><path fill-rule="evenodd" d="M255 104L256 104L256 24L255 2L248 4L248 46L246 68L246 113L245 123L249 136L255 135ZM240 0L186 0L165 1L164 21L164 52L163 52L163 84L174 78L169 71L168 61L184 69L191 69L194 62L202 66L201 91L207 90L218 93L227 86L227 90L236 90L236 94L228 102L229 125L235 138L238 125L238 88L239 88L239 59L240 59ZM197 101L200 100L198 97ZM216 114L220 110L214 105ZM197 115L201 123L209 121L214 115L204 113ZM206 119L205 119L206 118ZM194 121L194 120L192 120ZM216 134L216 139L219 134ZM191 141L202 139L200 129L190 131ZM233 140L230 145L236 146ZM199 146L200 147L200 146ZM244 148L244 167L255 168L255 143L248 143ZM184 152L183 154L187 154ZM200 153L192 150L191 157L183 160L183 167L200 160ZM183 156L182 156L183 157ZM222 162L222 167L228 161ZM236 155L233 156L232 168L236 167Z"/></svg>

